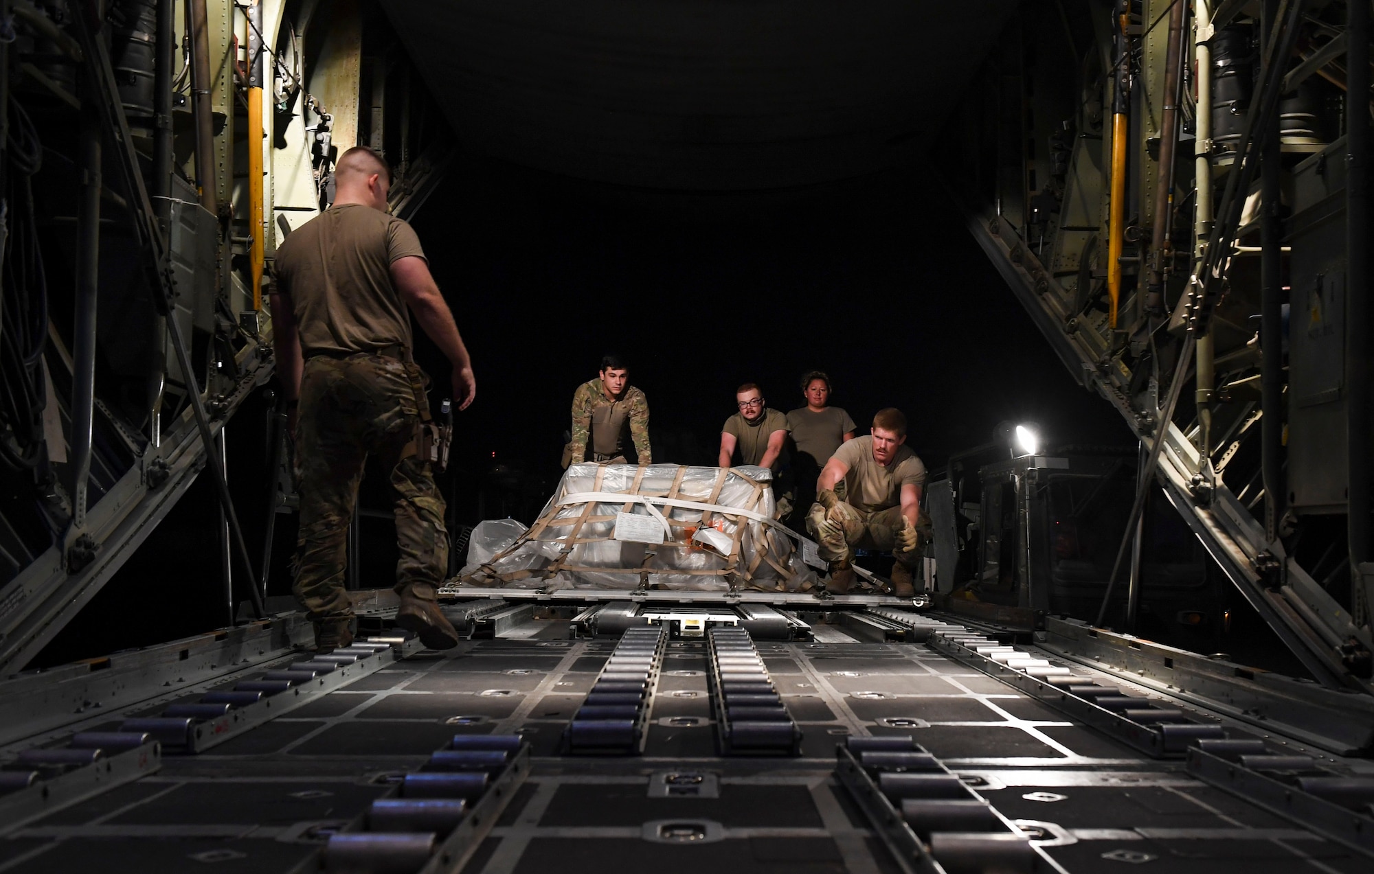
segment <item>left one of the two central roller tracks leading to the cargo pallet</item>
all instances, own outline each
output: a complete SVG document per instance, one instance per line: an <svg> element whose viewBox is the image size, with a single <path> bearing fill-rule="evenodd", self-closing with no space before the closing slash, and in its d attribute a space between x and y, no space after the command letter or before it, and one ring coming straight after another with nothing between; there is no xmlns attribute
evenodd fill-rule
<svg viewBox="0 0 1374 874"><path fill-rule="evenodd" d="M668 643L668 625L621 635L563 734L570 753L633 754L644 749L646 723Z"/></svg>

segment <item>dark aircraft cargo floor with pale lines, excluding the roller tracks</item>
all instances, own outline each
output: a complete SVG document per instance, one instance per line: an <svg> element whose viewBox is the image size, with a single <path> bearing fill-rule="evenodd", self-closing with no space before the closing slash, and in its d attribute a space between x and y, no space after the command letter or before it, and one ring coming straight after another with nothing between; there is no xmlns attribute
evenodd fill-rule
<svg viewBox="0 0 1374 874"><path fill-rule="evenodd" d="M552 627L552 625L551 625ZM420 653L159 774L0 840L0 871L286 871L460 732L519 731L533 772L466 871L896 874L834 781L849 734L911 734L1069 871L1366 871L1369 860L1150 760L923 645L758 642L801 757L723 759L699 642L672 642L643 756L561 756L614 640L463 642ZM837 632L842 634L842 632ZM1116 677L1120 682L1120 677ZM664 796L662 772L714 776ZM655 783L660 794L655 796ZM673 842L655 823L698 823Z"/></svg>

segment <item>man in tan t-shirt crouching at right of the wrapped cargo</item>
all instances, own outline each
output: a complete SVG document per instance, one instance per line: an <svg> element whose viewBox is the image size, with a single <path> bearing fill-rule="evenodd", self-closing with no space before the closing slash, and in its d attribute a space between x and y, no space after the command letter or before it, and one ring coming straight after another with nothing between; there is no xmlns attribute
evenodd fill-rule
<svg viewBox="0 0 1374 874"><path fill-rule="evenodd" d="M890 550L894 594L915 594L914 570L930 525L921 517L926 466L905 442L907 418L893 407L879 410L870 436L845 442L820 471L807 530L830 565L831 594L853 587L855 547Z"/></svg>

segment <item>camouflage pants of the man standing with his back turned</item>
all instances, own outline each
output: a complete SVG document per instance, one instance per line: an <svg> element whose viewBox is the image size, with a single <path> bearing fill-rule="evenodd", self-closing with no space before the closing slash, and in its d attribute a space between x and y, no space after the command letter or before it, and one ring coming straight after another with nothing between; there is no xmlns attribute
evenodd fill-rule
<svg viewBox="0 0 1374 874"><path fill-rule="evenodd" d="M429 458L420 453L420 416L407 366L354 355L312 357L301 377L295 474L301 495L293 591L311 620L353 614L344 590L348 526L357 504L363 463L375 456L396 499L396 590L436 599L448 572L444 497ZM423 397L420 403L427 403Z"/></svg>

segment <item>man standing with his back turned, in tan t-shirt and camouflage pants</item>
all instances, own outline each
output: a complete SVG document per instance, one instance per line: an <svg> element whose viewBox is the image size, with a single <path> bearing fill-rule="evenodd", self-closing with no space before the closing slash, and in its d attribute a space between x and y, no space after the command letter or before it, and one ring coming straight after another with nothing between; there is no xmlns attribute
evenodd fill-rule
<svg viewBox="0 0 1374 874"><path fill-rule="evenodd" d="M293 591L315 624L316 651L353 642L353 602L344 591L348 524L371 455L396 497L396 624L430 649L448 649L458 646L438 606L448 532L430 473L427 377L412 355L412 315L453 367L459 410L473 403L477 382L419 238L387 214L386 162L356 146L339 158L334 179L334 205L276 250L276 366L298 411L291 416L301 493Z"/></svg>

